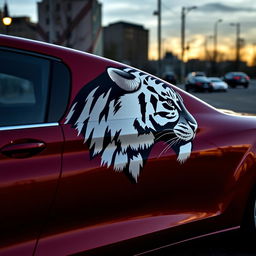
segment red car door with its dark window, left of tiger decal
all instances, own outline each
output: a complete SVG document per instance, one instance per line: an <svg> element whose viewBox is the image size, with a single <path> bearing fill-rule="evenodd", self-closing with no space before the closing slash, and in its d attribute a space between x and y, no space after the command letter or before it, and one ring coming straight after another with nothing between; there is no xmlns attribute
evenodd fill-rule
<svg viewBox="0 0 256 256"><path fill-rule="evenodd" d="M58 110L49 111L58 61L4 47L0 56L0 255L32 255L61 171Z"/></svg>

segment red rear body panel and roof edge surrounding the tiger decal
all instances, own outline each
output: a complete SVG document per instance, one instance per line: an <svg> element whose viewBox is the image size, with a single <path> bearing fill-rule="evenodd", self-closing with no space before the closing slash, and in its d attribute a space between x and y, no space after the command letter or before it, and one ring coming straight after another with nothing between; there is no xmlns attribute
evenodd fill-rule
<svg viewBox="0 0 256 256"><path fill-rule="evenodd" d="M51 140L61 140L62 135L56 134L61 128L63 155L56 153L53 157L58 161L62 159L62 174L55 198L60 169L45 171L45 177L50 176L42 184L49 180L52 183L44 200L52 195L54 203L48 214L42 212L48 216L47 225L43 226L40 235L36 235L35 255L66 255L105 247L111 247L114 255L117 245L122 245L127 254L130 250L138 253L145 250L140 248L142 245L153 249L240 225L248 195L256 181L255 118L224 114L168 85L181 95L187 111L198 124L191 155L181 164L173 149L166 150L164 142L156 142L137 182L131 182L124 172L114 170L112 165L102 165L100 154L92 157L85 138L66 123L73 101L82 88L109 67L122 69L126 66L29 40L1 36L1 45L58 58L68 66L72 76L70 100L66 114L59 120L60 127L53 133L46 132L55 138ZM40 135L45 131L40 130ZM132 137L133 134L127 134L129 141L128 135ZM42 163L40 166L42 171L47 167ZM36 193L34 197L42 196ZM46 203L39 201L38 204L41 207ZM154 236L158 238L157 245L148 243ZM140 246L130 246L138 241ZM13 247L13 252L17 252L17 248L27 248L30 243L31 240L25 238L20 247Z"/></svg>

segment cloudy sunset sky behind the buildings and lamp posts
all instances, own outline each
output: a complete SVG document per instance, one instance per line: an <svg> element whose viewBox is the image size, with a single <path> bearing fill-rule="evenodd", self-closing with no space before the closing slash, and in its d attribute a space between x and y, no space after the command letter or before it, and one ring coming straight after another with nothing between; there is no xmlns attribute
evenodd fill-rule
<svg viewBox="0 0 256 256"><path fill-rule="evenodd" d="M102 3L102 23L104 26L117 21L127 21L143 25L150 33L151 59L157 58L157 0L98 0ZM38 0L7 0L10 14L28 15L37 21ZM218 23L218 50L222 59L235 58L236 27L230 23L240 23L240 37L244 40L241 50L243 60L250 63L256 54L256 0L162 0L162 54L172 51L180 55L181 8L197 6L186 15L186 58L203 58L205 42L207 49L213 49L214 24ZM3 6L4 0L0 0Z"/></svg>

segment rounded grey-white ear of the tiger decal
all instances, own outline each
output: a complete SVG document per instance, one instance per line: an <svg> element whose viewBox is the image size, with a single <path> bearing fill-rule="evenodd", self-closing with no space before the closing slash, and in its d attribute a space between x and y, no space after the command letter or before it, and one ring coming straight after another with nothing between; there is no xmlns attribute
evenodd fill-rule
<svg viewBox="0 0 256 256"><path fill-rule="evenodd" d="M127 92L135 92L140 87L140 79L128 72L117 68L108 68L107 72L110 79Z"/></svg>

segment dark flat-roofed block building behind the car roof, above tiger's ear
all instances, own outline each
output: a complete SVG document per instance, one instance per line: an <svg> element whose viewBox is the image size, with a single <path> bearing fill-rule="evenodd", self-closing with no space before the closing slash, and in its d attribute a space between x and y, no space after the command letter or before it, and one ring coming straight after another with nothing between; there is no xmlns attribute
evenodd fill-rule
<svg viewBox="0 0 256 256"><path fill-rule="evenodd" d="M144 68L148 63L148 35L141 25L112 23L104 28L104 56Z"/></svg>

